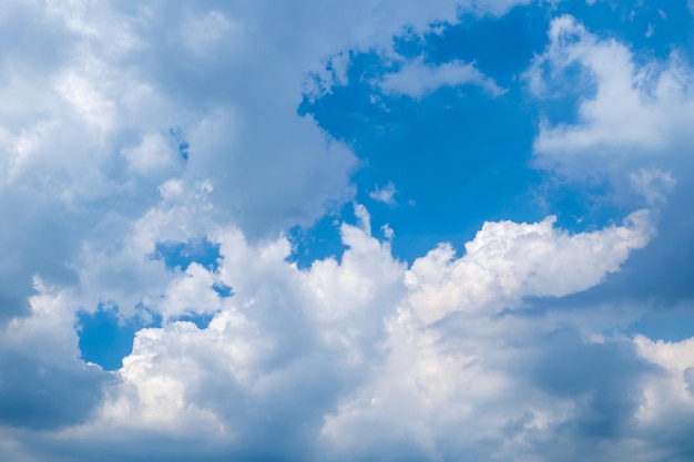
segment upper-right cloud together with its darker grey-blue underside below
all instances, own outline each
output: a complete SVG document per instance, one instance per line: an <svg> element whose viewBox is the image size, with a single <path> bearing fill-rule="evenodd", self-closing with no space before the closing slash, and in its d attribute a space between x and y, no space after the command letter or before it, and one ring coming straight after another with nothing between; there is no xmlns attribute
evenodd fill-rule
<svg viewBox="0 0 694 462"><path fill-rule="evenodd" d="M685 51L674 47L666 59L637 53L571 16L554 19L548 37L525 82L539 101L570 96L576 112L564 121L541 119L535 165L574 184L604 181L600 201L660 214L657 237L602 292L663 307L691 300L681 276L691 273L694 251L684 212L694 184L686 122L694 82Z"/></svg>

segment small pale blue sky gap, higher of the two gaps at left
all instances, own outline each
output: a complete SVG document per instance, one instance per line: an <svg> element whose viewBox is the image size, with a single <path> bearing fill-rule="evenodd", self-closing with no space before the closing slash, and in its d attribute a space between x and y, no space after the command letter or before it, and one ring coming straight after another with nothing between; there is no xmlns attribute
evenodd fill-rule
<svg viewBox="0 0 694 462"><path fill-rule="evenodd" d="M205 238L187 242L156 243L153 259L164 260L169 269L185 271L192 263L216 271L220 267L220 245Z"/></svg>

